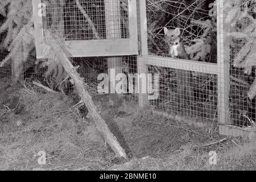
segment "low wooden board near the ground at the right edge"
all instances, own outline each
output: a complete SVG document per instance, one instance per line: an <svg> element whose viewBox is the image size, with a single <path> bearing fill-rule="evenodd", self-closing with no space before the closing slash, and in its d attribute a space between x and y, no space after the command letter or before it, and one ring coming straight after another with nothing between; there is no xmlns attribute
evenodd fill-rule
<svg viewBox="0 0 256 182"><path fill-rule="evenodd" d="M218 126L218 129L221 135L226 135L228 137L243 137L248 138L249 140L256 139L255 131L244 130L238 126L220 125Z"/></svg>

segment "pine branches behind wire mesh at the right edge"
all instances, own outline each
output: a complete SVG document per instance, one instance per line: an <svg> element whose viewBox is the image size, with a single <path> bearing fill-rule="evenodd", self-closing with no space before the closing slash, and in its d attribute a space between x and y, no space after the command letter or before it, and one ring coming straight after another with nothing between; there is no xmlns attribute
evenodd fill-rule
<svg viewBox="0 0 256 182"><path fill-rule="evenodd" d="M244 73L251 75L256 66L256 3L255 1L235 0L226 2L230 11L225 19L232 26L229 36L232 40L239 40L243 46L233 59L233 66L242 68ZM256 95L256 80L249 90L248 96L252 100Z"/></svg>

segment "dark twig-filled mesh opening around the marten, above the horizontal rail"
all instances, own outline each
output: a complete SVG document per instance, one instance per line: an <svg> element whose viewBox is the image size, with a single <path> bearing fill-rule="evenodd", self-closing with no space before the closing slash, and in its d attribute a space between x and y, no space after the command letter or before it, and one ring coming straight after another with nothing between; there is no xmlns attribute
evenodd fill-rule
<svg viewBox="0 0 256 182"><path fill-rule="evenodd" d="M169 7L172 7L169 9L164 9L165 6L162 6L157 2L148 3L148 39L151 40L148 42L149 54L168 56L169 46L165 42L166 38L164 36L163 27L154 27L155 22L162 23L165 17L168 17L170 20L163 24L169 30L180 28L180 36L185 45L185 49L188 52L189 59L217 63L217 56L214 56L217 55L217 49L212 48L211 46L212 44L216 44L217 47L217 34L212 31L214 27L217 26L217 21L209 14L210 9L209 4L206 4L207 2L214 3L214 0L196 1L192 5L189 3L186 4L186 2L183 1L177 1L175 5L173 5L172 1L166 1L166 4L169 5ZM151 14L150 12L152 9L160 11L158 13L159 15L156 16L155 14ZM212 26L212 30L209 29L209 32L205 32L205 24L208 24L209 27ZM198 49L198 47L195 47L195 41L198 40L204 40L205 49L202 52L194 53L193 49ZM191 49L188 47L191 47Z"/></svg>

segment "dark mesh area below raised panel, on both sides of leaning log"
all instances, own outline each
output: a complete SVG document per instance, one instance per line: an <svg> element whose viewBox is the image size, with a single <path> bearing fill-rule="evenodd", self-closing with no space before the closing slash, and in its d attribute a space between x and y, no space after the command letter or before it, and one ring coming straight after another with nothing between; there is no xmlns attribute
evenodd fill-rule
<svg viewBox="0 0 256 182"><path fill-rule="evenodd" d="M74 57L71 63L77 67L77 72L84 78L87 89L92 96L107 100L110 91L110 73L109 59L110 57ZM121 88L122 100L137 101L138 93L135 92L137 85L137 56L120 56L122 60L121 68L113 68L121 70L119 75L115 76L117 88ZM42 61L42 60L41 60ZM59 67L53 62L44 65L44 62L36 63L36 65L24 71L24 80L31 84L32 81L40 82L58 92L65 94L73 93L74 85L71 78L64 71L62 66ZM118 89L115 89L118 91ZM114 92L115 93L115 92Z"/></svg>

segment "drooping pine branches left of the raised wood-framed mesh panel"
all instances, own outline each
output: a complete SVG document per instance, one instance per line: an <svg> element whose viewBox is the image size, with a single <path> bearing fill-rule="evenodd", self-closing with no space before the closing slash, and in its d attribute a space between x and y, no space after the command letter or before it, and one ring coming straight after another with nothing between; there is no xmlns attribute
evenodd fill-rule
<svg viewBox="0 0 256 182"><path fill-rule="evenodd" d="M56 1L64 2L64 0L51 0L46 3L51 6L51 3ZM24 70L37 64L32 0L1 0L0 14L6 18L0 27L0 34L6 32L2 46L9 51L9 55L0 62L0 67L10 60L14 60L16 64L23 64ZM45 59L41 66L47 67L45 76L48 82L54 82L53 87L63 82L65 71L56 60Z"/></svg>

